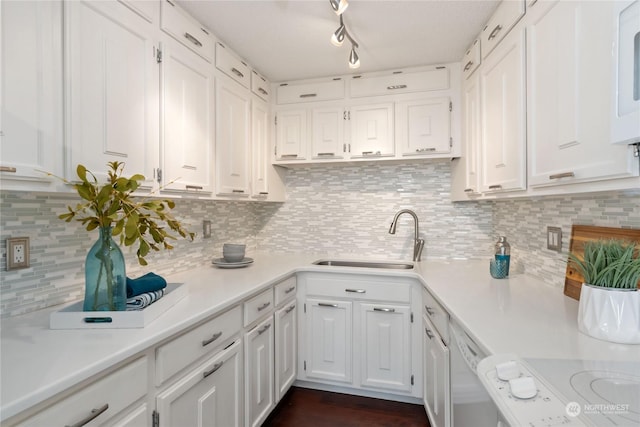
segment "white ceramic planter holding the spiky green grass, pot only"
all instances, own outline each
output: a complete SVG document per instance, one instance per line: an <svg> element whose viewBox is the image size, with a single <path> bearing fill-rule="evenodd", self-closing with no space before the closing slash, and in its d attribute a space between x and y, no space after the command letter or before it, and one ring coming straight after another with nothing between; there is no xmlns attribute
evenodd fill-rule
<svg viewBox="0 0 640 427"><path fill-rule="evenodd" d="M578 329L604 341L640 344L640 292L583 283Z"/></svg>

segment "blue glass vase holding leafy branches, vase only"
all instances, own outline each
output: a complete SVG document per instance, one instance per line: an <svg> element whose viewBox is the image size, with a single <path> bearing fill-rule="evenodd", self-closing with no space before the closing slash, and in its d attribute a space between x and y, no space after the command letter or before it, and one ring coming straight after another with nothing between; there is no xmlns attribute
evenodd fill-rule
<svg viewBox="0 0 640 427"><path fill-rule="evenodd" d="M84 311L124 311L127 275L124 256L113 241L111 227L100 227L100 237L85 262Z"/></svg>

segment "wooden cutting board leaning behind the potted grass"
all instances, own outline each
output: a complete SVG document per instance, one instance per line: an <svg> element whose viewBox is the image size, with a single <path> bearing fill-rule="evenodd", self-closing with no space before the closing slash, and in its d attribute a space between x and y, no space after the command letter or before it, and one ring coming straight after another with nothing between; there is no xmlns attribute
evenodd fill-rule
<svg viewBox="0 0 640 427"><path fill-rule="evenodd" d="M595 227L593 225L573 225L571 227L571 243L569 252L580 257L584 254L584 244L591 240L621 239L640 244L640 229ZM564 279L564 294L580 299L580 288L584 278L567 262Z"/></svg>

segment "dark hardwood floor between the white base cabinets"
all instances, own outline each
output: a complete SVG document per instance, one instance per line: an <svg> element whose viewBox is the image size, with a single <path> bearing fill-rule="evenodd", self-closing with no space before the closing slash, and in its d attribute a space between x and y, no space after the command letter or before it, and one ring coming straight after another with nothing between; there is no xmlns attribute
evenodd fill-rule
<svg viewBox="0 0 640 427"><path fill-rule="evenodd" d="M422 405L292 387L263 427L429 427Z"/></svg>

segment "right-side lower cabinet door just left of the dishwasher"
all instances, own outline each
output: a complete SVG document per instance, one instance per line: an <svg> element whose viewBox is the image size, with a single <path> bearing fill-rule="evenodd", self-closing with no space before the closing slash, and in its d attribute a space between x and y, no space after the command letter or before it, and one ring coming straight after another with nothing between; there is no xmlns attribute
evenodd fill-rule
<svg viewBox="0 0 640 427"><path fill-rule="evenodd" d="M442 342L429 319L423 316L422 321L424 325L422 338L424 407L432 427L449 427L451 425L449 349Z"/></svg>

